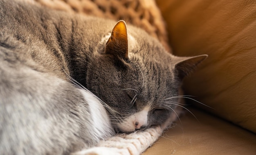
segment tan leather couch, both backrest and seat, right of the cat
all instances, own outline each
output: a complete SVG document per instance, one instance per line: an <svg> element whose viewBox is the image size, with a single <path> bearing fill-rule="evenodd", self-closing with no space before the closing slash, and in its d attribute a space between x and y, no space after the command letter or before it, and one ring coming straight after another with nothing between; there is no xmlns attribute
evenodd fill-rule
<svg viewBox="0 0 256 155"><path fill-rule="evenodd" d="M157 0L173 53L208 54L189 110L144 155L256 155L256 1ZM193 108L192 108L193 107Z"/></svg>

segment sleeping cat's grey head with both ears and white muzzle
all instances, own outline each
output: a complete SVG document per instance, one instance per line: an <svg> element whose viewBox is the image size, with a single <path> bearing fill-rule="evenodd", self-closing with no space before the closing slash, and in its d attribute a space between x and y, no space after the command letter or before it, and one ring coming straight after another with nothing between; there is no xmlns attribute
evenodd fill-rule
<svg viewBox="0 0 256 155"><path fill-rule="evenodd" d="M182 79L207 55L176 57L141 29L119 21L89 65L87 86L108 104L116 131L164 123L179 106Z"/></svg>

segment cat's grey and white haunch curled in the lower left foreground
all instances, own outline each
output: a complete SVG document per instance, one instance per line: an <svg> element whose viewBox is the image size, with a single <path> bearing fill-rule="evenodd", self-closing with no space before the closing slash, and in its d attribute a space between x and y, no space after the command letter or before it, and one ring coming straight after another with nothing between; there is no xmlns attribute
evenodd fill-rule
<svg viewBox="0 0 256 155"><path fill-rule="evenodd" d="M0 66L0 154L62 154L111 134L86 90L27 66Z"/></svg>

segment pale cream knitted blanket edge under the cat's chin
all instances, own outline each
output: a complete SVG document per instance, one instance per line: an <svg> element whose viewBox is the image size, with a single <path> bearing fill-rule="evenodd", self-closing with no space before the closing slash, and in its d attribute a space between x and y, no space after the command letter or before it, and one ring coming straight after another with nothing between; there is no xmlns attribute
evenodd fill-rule
<svg viewBox="0 0 256 155"><path fill-rule="evenodd" d="M139 155L150 147L176 118L177 115L175 114L164 124L148 128L145 131L117 134L107 140L101 140L98 146L72 153L72 155Z"/></svg>

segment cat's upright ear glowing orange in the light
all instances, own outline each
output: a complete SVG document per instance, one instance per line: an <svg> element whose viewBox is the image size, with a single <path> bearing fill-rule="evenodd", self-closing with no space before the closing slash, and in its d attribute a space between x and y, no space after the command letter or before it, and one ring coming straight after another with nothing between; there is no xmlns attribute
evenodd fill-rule
<svg viewBox="0 0 256 155"><path fill-rule="evenodd" d="M117 22L105 46L105 53L128 59L128 37L124 20Z"/></svg>

